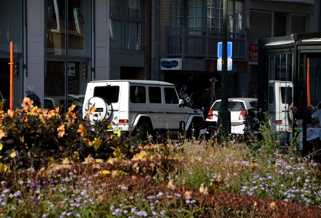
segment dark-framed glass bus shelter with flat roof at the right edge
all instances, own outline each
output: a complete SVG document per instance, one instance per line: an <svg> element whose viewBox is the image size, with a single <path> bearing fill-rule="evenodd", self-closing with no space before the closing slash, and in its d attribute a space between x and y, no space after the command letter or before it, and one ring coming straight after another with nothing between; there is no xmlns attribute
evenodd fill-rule
<svg viewBox="0 0 321 218"><path fill-rule="evenodd" d="M302 153L320 149L321 32L257 39L256 43L259 107L267 108L273 130L285 136L283 143L291 141L299 126Z"/></svg>

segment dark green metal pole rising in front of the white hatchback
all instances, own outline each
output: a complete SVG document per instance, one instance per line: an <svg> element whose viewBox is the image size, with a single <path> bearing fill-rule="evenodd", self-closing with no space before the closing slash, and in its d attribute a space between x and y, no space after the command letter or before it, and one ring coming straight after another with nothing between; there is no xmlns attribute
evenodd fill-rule
<svg viewBox="0 0 321 218"><path fill-rule="evenodd" d="M222 40L222 105L219 111L219 120L221 122L220 137L228 137L231 132L231 113L228 110L228 70L227 70L227 41L228 41L228 22L227 22L228 0L223 0L223 40Z"/></svg>

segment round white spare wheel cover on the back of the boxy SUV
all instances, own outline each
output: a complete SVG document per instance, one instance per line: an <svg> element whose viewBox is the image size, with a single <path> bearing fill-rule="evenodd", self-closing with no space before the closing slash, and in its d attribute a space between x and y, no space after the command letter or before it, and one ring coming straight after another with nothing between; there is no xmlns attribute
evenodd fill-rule
<svg viewBox="0 0 321 218"><path fill-rule="evenodd" d="M87 111L90 106L95 106L96 111L88 115L88 119L92 123L101 122L103 119L109 119L112 114L112 105L109 100L103 97L92 97L88 100L86 104Z"/></svg>

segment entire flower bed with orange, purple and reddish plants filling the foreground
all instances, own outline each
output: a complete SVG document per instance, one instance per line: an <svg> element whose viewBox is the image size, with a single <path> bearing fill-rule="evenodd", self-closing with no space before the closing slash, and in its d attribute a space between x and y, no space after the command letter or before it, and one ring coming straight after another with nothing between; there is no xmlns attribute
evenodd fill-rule
<svg viewBox="0 0 321 218"><path fill-rule="evenodd" d="M321 217L320 166L264 125L253 146L143 143L29 103L0 110L1 217Z"/></svg>

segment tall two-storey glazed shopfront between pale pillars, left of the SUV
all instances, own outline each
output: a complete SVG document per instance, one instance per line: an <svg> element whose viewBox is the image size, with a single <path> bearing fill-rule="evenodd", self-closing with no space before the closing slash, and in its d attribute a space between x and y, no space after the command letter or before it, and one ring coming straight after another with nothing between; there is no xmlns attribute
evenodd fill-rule
<svg viewBox="0 0 321 218"><path fill-rule="evenodd" d="M44 108L65 113L74 103L81 115L91 78L91 1L48 0L47 9Z"/></svg>

